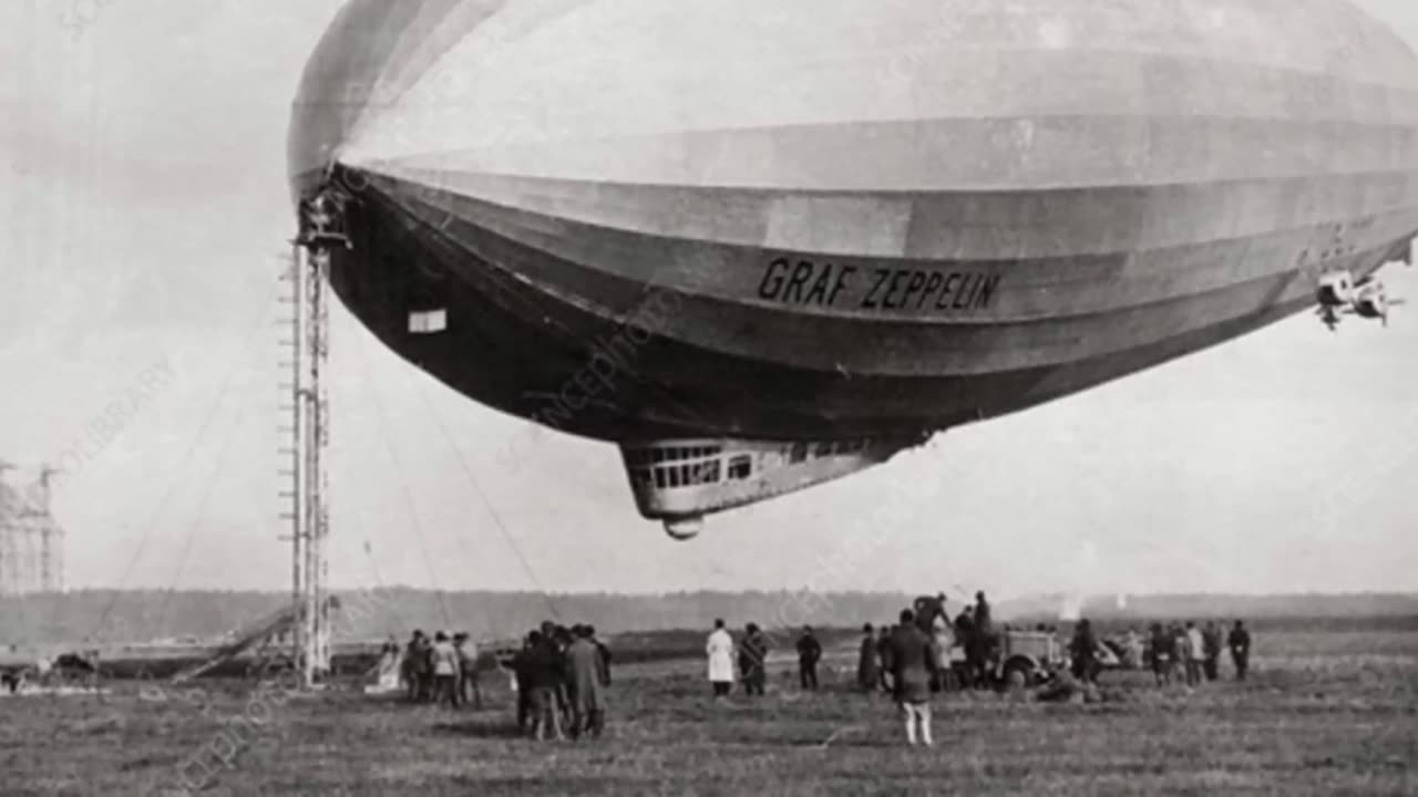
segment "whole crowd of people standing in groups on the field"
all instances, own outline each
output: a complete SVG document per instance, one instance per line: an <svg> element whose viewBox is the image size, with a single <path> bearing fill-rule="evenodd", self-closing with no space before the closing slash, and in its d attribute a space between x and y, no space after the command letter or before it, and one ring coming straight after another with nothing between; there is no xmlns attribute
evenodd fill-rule
<svg viewBox="0 0 1418 797"><path fill-rule="evenodd" d="M1037 637L1054 638L1052 628L1039 627L1038 631L1042 634ZM983 591L954 617L947 611L944 594L923 597L912 608L902 610L895 624L862 627L855 685L861 692L891 695L905 722L908 743L929 746L933 743L932 695L993 688L1001 678L1001 638L1005 635L1014 645L1017 635L1008 625L1003 632L995 630ZM1058 648L1054 642L1049 645ZM822 642L811 627L804 627L793 647L800 688L817 691ZM727 698L735 682L743 684L747 696L764 695L773 648L774 638L756 623L744 625L742 637L735 640L725 621L716 620L705 644L713 698ZM1054 678L1072 676L1073 684L1095 684L1106 659L1129 668L1150 667L1159 685L1177 681L1195 686L1221 676L1224 650L1231 652L1235 676L1245 679L1251 634L1241 621L1225 638L1214 621L1204 627L1159 623L1146 635L1132 630L1120 640L1105 642L1088 620L1081 620L1068 645L1068 672L1055 672ZM398 654L397 644L386 648L386 657L391 654ZM567 628L543 623L526 635L520 650L499 664L513 676L519 732L537 740L597 737L604 732L611 654L591 625ZM403 651L400 675L413 702L450 708L482 703L478 655L467 634L440 631L428 638L414 631ZM1045 691L1054 685L1046 684Z"/></svg>

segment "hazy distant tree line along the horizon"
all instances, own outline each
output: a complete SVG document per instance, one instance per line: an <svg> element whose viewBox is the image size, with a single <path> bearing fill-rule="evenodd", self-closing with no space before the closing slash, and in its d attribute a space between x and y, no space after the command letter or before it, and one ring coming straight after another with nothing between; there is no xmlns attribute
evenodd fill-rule
<svg viewBox="0 0 1418 797"><path fill-rule="evenodd" d="M730 627L757 623L766 628L851 628L891 623L915 596L886 593L696 591L664 596L437 593L414 589L340 591L336 638L349 641L406 637L413 628L468 631L478 638L523 634L543 620L590 623L607 634L654 630L705 630L722 617ZM289 606L282 593L111 591L0 598L0 645L142 642L164 638L211 640ZM959 607L954 603L954 607ZM1003 601L997 615L1018 621L1056 618L1051 596ZM1353 596L1146 596L1085 604L1098 620L1180 618L1246 620L1388 618L1387 624L1418 624L1418 597Z"/></svg>

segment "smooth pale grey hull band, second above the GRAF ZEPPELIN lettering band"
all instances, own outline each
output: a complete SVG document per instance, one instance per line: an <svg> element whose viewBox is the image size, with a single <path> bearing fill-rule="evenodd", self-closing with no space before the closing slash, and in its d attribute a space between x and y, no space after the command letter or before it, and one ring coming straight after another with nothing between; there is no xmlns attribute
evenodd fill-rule
<svg viewBox="0 0 1418 797"><path fill-rule="evenodd" d="M496 149L431 150L421 157L352 165L740 191L987 193L1402 170L1415 163L1415 128L1418 121L1357 125L1200 116L912 119L509 142ZM922 140L934 145L930 155L922 155L927 149Z"/></svg>

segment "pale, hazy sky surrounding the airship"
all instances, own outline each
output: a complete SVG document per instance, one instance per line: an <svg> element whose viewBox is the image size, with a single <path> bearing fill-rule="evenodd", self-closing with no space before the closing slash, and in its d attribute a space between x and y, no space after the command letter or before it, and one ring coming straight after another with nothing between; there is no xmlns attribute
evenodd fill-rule
<svg viewBox="0 0 1418 797"><path fill-rule="evenodd" d="M1418 3L1360 3L1418 43ZM289 104L337 0L0 6L0 458L57 462L69 587L289 584ZM277 10L278 9L278 10ZM1418 274L1391 268L1418 299ZM1418 589L1418 315L1296 318L885 467L640 518L614 447L465 400L336 308L343 589Z"/></svg>

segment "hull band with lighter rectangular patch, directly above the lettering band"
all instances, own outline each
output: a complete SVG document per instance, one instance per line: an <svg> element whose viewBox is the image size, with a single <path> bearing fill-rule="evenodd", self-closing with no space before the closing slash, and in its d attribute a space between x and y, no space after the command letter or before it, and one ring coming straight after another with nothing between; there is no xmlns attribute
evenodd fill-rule
<svg viewBox="0 0 1418 797"><path fill-rule="evenodd" d="M574 208L518 207L519 184L492 191L482 199L457 186L452 174L423 174L407 179L370 174L386 183L396 197L418 200L438 217L459 213L488 224L526 227L549 235L586 233L605 245L628 248L623 241L644 238L655 245L705 244L733 247L725 251L781 251L808 257L872 258L881 261L929 262L939 260L976 264L1008 264L1015 269L1058 257L1107 257L1119 252L1166 251L1211 241L1252 238L1278 231L1296 231L1316 224L1349 223L1357 217L1411 210L1418 213L1418 170L1367 174L1310 176L1289 180L1232 180L1195 186L1127 186L1093 190L1038 191L939 191L912 194L811 194L788 191L722 191L718 189L632 189L580 186L587 203ZM417 180L410 183L408 180ZM424 182L427 180L427 182ZM522 204L533 204L536 182L526 184ZM464 190L476 191L476 184ZM797 204L778 207L781 203ZM773 218L791 213L811 218L808 203L856 203L820 220L855 224L855 214L869 213L871 203L903 217L903 227L889 245L851 250L815 245L813 240L771 233ZM598 216L598 217L597 217ZM722 220L722 221L700 221ZM803 223L803 221L800 221ZM709 227L709 225L713 227ZM732 225L730 225L732 224ZM1086 231L1086 237L1085 237ZM869 227L854 230L856 240L876 237ZM838 237L847 231L837 233ZM604 268L620 269L644 279L651 265L644 258L610 258ZM674 268L674 262L662 265ZM638 269L638 271L635 271ZM1056 278L1054 268L1042 271ZM693 279L686 272L683 279Z"/></svg>

